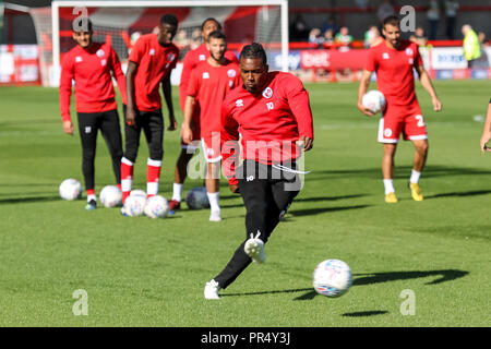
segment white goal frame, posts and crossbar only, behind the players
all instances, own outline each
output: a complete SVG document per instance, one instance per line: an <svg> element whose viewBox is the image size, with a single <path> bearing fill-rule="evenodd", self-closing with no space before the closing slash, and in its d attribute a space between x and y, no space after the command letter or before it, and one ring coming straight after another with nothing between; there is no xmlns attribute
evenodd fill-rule
<svg viewBox="0 0 491 349"><path fill-rule="evenodd" d="M288 72L288 0L155 0L155 1L52 1L52 63L60 71L60 8L191 8L278 5L282 19L282 71Z"/></svg>

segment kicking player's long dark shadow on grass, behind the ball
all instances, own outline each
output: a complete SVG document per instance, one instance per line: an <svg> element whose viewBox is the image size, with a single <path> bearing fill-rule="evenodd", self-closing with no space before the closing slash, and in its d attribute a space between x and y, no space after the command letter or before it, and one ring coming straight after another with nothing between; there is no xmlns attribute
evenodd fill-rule
<svg viewBox="0 0 491 349"><path fill-rule="evenodd" d="M372 284L379 284L379 282L415 279L415 278L429 277L429 276L440 276L440 278L433 279L432 281L428 281L424 284L424 285L436 285L436 284L442 284L442 282L458 279L460 277L466 276L467 274L469 274L469 272L457 270L457 269L355 274L355 275L361 276L361 277L355 278L351 287L372 285ZM301 294L301 296L295 298L294 300L306 301L306 300L311 300L316 296L318 296L318 293L314 290L309 289L309 292Z"/></svg>

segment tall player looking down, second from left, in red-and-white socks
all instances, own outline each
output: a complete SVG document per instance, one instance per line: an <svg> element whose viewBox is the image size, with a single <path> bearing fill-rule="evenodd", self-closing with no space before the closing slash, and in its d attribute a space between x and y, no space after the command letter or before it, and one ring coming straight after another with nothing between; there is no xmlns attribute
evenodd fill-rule
<svg viewBox="0 0 491 349"><path fill-rule="evenodd" d="M127 71L128 108L124 124L125 149L124 157L121 159L123 203L130 195L133 184L133 165L136 160L142 129L149 153L146 169L146 193L148 197L158 193L161 158L164 156L164 118L158 89L161 84L169 110L170 124L168 130L176 130L170 72L179 59L179 49L172 44L177 27L177 17L172 14L165 14L158 25L159 33L141 36L129 57ZM124 209L121 213L124 215Z"/></svg>

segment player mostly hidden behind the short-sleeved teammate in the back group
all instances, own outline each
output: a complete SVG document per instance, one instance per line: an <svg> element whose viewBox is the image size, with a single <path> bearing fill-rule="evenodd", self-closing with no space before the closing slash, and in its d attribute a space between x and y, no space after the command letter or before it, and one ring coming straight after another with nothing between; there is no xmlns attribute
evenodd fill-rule
<svg viewBox="0 0 491 349"><path fill-rule="evenodd" d="M191 77L192 71L202 62L206 61L209 58L209 49L207 47L208 35L212 32L221 31L221 25L215 19L206 19L204 20L201 26L201 35L203 37L203 44L195 48L194 50L189 51L184 60L182 62L182 73L181 73L181 82L179 84L179 100L181 105L182 113L184 113L184 105L185 98L188 96L188 85ZM236 55L230 51L225 51L225 58L229 61L238 63ZM172 190L172 200L169 202L169 207L171 210L180 208L180 202L182 200L182 185L184 183L184 179L188 176L188 164L191 160L195 149L196 144L201 140L200 132L200 104L195 100L194 111L192 115L192 125L193 125L193 142L185 144L181 140L181 154L176 164L176 173L173 180L173 190ZM237 181L231 180L231 190L237 190Z"/></svg>

